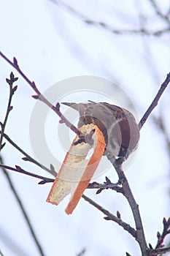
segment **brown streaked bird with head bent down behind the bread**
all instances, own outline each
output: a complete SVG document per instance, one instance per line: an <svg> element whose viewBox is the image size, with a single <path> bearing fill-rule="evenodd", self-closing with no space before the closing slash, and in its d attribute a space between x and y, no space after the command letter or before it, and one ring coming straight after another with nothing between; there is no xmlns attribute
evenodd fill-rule
<svg viewBox="0 0 170 256"><path fill-rule="evenodd" d="M128 158L139 142L139 127L131 112L107 102L62 102L80 114L78 128L84 124L96 124L103 132L106 148L104 155Z"/></svg>

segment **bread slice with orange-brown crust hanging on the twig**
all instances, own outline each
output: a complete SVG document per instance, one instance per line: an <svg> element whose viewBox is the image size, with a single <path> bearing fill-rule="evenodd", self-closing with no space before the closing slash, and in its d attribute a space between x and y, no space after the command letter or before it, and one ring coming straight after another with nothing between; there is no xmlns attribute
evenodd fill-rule
<svg viewBox="0 0 170 256"><path fill-rule="evenodd" d="M105 141L100 129L94 124L80 127L80 131L85 135L92 130L95 130L92 136L93 154L88 158L90 148L92 148L88 143L82 142L74 145L79 140L79 137L76 136L47 197L48 203L57 206L66 195L71 194L71 199L65 210L66 214L72 214L104 154Z"/></svg>

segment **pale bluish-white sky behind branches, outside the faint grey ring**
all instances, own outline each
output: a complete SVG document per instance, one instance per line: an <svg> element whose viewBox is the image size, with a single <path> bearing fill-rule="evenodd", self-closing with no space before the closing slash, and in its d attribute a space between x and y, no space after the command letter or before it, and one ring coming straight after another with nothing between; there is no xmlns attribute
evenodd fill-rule
<svg viewBox="0 0 170 256"><path fill-rule="evenodd" d="M94 0L66 1L89 18L93 17L94 20L105 21L110 26L123 29L137 27L136 17L139 10L143 10L150 15L150 26L159 28L162 23L154 20L147 0L142 2L143 4L137 5L135 1L125 0L116 4L111 1L98 1L97 4ZM36 82L42 92L63 79L78 75L96 75L117 80L136 105L140 118L158 91L159 84L170 71L168 36L114 36L99 27L88 26L62 5L58 7L45 0L7 0L0 3L1 51L9 59L15 56L20 68ZM166 7L167 1L162 1L162 4ZM8 97L5 78L13 69L2 59L0 67L0 113L4 116ZM13 72L18 76L15 70ZM83 88L80 86L80 89ZM106 88L106 94L109 92ZM30 118L35 105L32 94L33 91L19 76L18 91L13 98L14 110L10 113L6 132L28 154L33 155L29 138ZM77 95L71 95L70 101L74 97ZM121 104L125 105L125 102ZM168 108L169 88L163 94L154 114L158 115L161 109L163 116L169 115L166 112ZM47 143L52 147L53 154L58 155L58 145L53 140L55 125L49 125L53 118L54 124L58 123L58 118L50 113L45 132L51 135L47 136ZM166 125L169 129L169 120ZM37 170L33 164L23 162L23 156L8 143L2 154L7 165L20 165L31 172L39 171L39 174L49 176L42 170ZM142 129L138 153L133 164L126 170L126 175L139 203L147 242L152 246L156 243L157 231L162 230L163 217L169 217L167 158L163 136L150 118ZM106 175L112 182L117 181L114 170L104 173L98 181L104 181ZM67 199L58 207L45 203L51 184L39 186L34 178L18 173L11 173L11 176L45 255L76 256L83 248L87 249L85 256L117 256L125 255L125 252L139 255L139 246L134 238L114 222L104 220L104 215L84 200L80 200L74 214L68 217L64 212ZM1 173L0 195L1 251L5 256L38 256L20 208ZM101 203L113 214L120 211L123 220L134 225L128 204L121 195L112 191L95 195L95 190L86 191L85 195Z"/></svg>

